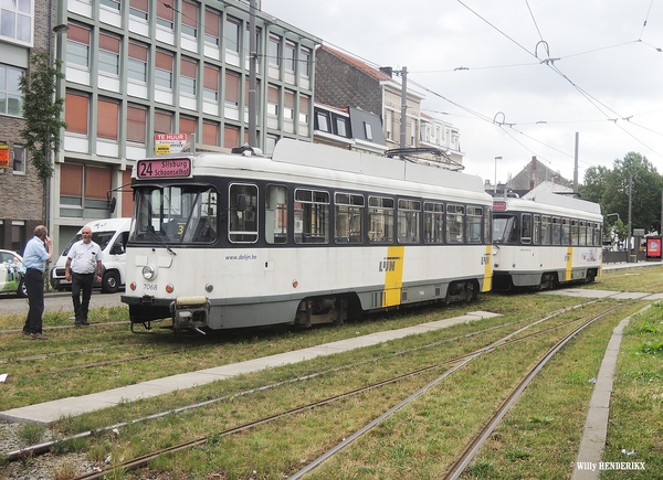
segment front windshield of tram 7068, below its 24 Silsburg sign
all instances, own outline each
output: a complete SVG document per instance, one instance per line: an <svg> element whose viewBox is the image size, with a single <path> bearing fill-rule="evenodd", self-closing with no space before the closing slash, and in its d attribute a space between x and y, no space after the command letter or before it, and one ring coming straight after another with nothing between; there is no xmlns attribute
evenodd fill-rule
<svg viewBox="0 0 663 480"><path fill-rule="evenodd" d="M217 241L218 192L210 186L136 189L134 231L129 242L210 244Z"/></svg>

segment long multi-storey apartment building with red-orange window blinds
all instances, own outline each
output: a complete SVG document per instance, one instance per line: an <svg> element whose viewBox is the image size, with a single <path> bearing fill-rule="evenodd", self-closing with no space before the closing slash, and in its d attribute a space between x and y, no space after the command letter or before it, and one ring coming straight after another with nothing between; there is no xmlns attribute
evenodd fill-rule
<svg viewBox="0 0 663 480"><path fill-rule="evenodd" d="M50 213L62 247L91 220L131 214L126 185L135 162L155 154L155 135L248 142L251 15L239 0L67 0L55 15L67 127ZM319 40L260 10L255 25L255 147L312 141Z"/></svg>

